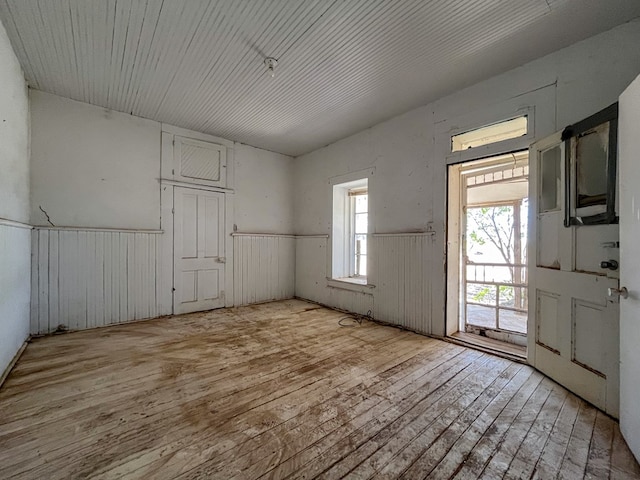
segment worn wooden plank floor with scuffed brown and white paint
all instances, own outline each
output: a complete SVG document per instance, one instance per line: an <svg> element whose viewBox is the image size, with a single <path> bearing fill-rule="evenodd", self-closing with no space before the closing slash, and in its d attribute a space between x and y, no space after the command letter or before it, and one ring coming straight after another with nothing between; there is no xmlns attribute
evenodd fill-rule
<svg viewBox="0 0 640 480"><path fill-rule="evenodd" d="M0 478L640 478L618 424L528 366L298 301L35 340Z"/></svg>

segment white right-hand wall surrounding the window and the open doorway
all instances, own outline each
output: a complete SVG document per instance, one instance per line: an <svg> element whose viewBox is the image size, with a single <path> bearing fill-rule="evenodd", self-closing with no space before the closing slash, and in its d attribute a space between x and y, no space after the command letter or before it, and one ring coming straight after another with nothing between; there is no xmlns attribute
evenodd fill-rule
<svg viewBox="0 0 640 480"><path fill-rule="evenodd" d="M521 107L532 107L537 115L534 138L564 128L617 101L640 72L639 44L640 22L630 22L297 158L296 234L330 233L329 178L375 166L369 183L373 232L424 231L430 226L436 232L433 258L423 263L423 275L430 276L424 283L431 291L418 294L431 298L428 332L444 334L446 156L451 132L472 126L465 124L470 116L481 126L499 120L493 116L501 109ZM326 253L316 250L319 256ZM304 287L307 298L329 298L326 257L298 254L297 262L296 294ZM424 265L430 265L429 271ZM380 280L374 278L373 283ZM374 316L376 302L387 296L380 288L373 289Z"/></svg>

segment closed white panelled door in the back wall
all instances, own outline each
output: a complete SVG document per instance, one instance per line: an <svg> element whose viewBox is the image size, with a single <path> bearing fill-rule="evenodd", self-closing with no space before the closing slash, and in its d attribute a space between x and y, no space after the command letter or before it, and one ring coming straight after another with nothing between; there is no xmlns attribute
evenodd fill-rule
<svg viewBox="0 0 640 480"><path fill-rule="evenodd" d="M224 307L224 194L174 187L174 311Z"/></svg>

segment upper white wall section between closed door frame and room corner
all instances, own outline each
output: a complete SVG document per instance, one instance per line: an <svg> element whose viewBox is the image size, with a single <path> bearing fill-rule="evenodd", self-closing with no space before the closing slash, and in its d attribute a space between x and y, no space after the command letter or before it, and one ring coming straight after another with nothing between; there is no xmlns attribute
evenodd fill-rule
<svg viewBox="0 0 640 480"><path fill-rule="evenodd" d="M239 232L293 232L293 158L236 143L235 224Z"/></svg>

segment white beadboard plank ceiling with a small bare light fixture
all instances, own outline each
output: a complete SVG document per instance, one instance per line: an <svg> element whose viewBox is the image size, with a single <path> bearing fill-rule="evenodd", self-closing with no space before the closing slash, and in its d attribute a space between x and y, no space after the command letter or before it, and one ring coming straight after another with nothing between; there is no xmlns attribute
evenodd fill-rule
<svg viewBox="0 0 640 480"><path fill-rule="evenodd" d="M625 0L0 0L33 88L290 155L637 16Z"/></svg>

